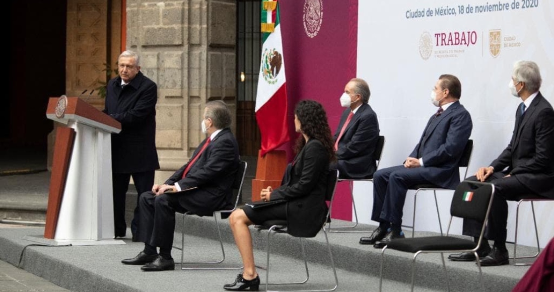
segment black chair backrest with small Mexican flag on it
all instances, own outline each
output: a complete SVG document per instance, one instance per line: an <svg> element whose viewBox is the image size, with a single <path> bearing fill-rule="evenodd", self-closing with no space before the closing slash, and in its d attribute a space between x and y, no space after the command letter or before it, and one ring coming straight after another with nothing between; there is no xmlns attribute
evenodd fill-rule
<svg viewBox="0 0 554 292"><path fill-rule="evenodd" d="M486 222L493 196L493 184L463 181L454 191L450 214L455 217Z"/></svg>

